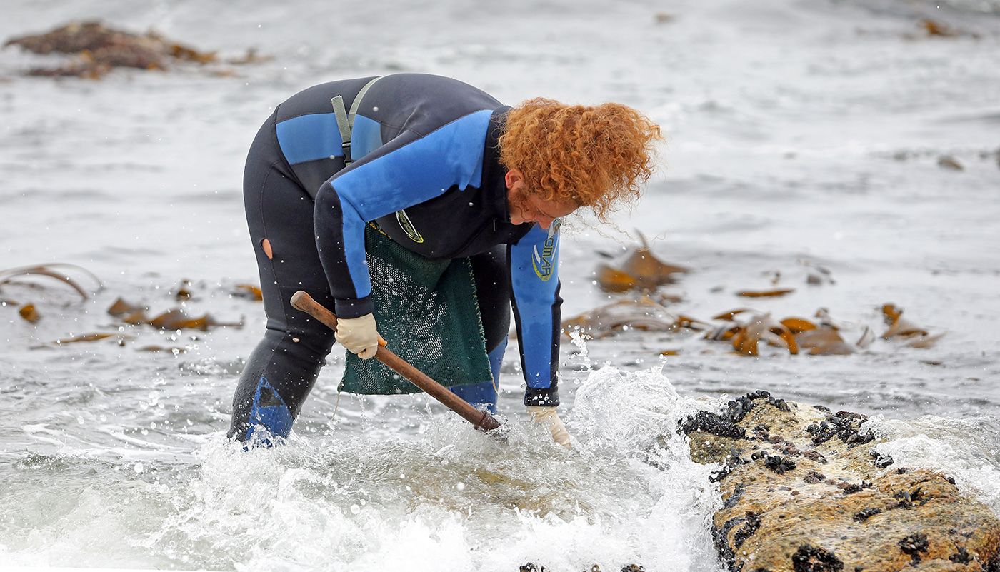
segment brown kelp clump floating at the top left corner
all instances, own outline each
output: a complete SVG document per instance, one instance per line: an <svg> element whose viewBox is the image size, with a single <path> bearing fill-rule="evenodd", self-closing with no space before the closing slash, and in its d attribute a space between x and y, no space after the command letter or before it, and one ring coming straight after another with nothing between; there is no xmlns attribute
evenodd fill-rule
<svg viewBox="0 0 1000 572"><path fill-rule="evenodd" d="M216 52L203 52L149 31L134 34L105 26L101 22L71 22L43 34L13 38L5 46L19 46L36 54L72 54L75 59L58 67L33 68L28 75L100 78L114 68L167 70L186 62L219 62ZM227 63L238 65L267 61L256 50Z"/></svg>

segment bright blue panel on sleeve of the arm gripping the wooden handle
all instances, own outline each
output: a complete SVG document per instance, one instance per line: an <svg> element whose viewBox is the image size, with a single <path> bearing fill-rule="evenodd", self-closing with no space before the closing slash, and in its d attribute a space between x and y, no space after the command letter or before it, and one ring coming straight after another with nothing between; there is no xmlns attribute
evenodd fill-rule
<svg viewBox="0 0 1000 572"><path fill-rule="evenodd" d="M340 197L344 257L358 298L371 293L365 224L440 196L452 186L461 190L481 186L486 130L492 113L470 113L399 148L363 158L330 179ZM359 135L367 141L370 135L365 130L373 126L365 121L359 124L359 119L361 116L355 119L355 129L362 126Z"/></svg>

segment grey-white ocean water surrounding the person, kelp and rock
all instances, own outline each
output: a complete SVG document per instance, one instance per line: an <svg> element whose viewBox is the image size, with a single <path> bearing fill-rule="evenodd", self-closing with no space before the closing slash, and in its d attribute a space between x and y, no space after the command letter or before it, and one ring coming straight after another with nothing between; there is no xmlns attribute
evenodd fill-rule
<svg viewBox="0 0 1000 572"><path fill-rule="evenodd" d="M104 283L86 302L41 279L0 291L42 316L32 325L0 306L0 562L714 571L712 468L690 461L675 423L757 389L873 415L880 449L957 467L959 486L1000 514L997 2L13 0L4 12L4 39L101 18L274 59L51 80L20 75L50 60L0 51L0 269L67 262ZM925 18L956 35L927 37ZM641 202L611 224L568 222L566 317L619 299L593 271L638 230L692 269L665 289L683 298L671 311L827 308L854 336L883 331L892 302L945 335L930 349L879 339L850 356L760 358L683 333L565 343L573 452L526 422L513 345L506 443L422 396L337 406L335 349L289 446L244 453L224 434L264 324L259 303L231 296L257 282L246 149L296 91L393 71L457 77L508 103L620 101L663 126ZM815 266L835 282L807 285ZM776 273L793 294L734 295ZM186 309L243 326L119 331L106 314L119 296L174 307L182 279ZM52 343L88 332L122 345Z"/></svg>

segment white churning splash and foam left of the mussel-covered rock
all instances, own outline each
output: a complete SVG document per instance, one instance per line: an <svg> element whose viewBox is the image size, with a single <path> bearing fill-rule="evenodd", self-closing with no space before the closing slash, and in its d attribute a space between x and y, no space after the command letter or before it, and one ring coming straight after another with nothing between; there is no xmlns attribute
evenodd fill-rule
<svg viewBox="0 0 1000 572"><path fill-rule="evenodd" d="M436 416L415 436L293 433L249 452L213 434L194 462L147 457L141 471L134 458L45 457L32 470L65 506L2 507L6 522L32 522L0 548L48 565L714 572L711 467L674 434L695 406L655 370L604 368L579 388L573 451L527 421L500 441ZM38 482L14 490L42 498Z"/></svg>

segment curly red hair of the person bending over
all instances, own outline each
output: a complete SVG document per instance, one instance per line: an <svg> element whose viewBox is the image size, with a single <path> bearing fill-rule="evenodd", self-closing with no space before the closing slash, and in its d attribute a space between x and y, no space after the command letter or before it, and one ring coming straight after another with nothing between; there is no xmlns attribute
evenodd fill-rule
<svg viewBox="0 0 1000 572"><path fill-rule="evenodd" d="M532 194L590 207L603 220L640 195L658 139L660 127L626 105L536 98L508 113L500 162L521 171Z"/></svg>

